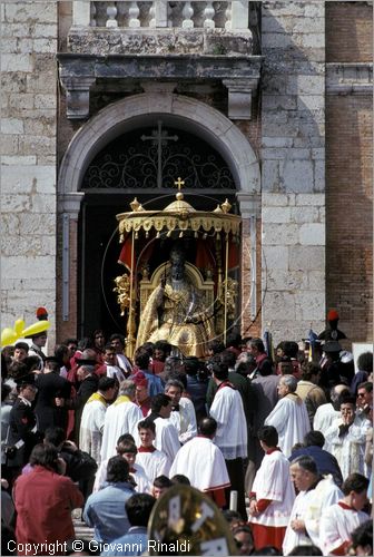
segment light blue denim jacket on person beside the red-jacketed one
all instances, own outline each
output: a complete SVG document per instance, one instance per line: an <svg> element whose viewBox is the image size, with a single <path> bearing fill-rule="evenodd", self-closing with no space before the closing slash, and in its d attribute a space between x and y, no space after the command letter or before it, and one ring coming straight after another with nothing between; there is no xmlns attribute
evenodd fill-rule
<svg viewBox="0 0 374 557"><path fill-rule="evenodd" d="M131 483L107 483L89 496L83 510L85 522L95 528L97 541L112 541L130 528L125 502L135 494Z"/></svg>

